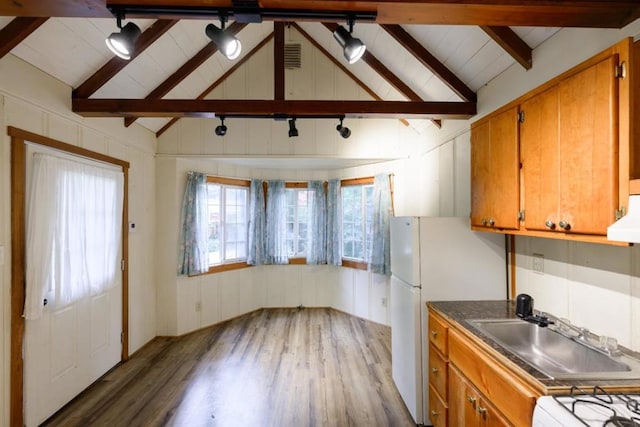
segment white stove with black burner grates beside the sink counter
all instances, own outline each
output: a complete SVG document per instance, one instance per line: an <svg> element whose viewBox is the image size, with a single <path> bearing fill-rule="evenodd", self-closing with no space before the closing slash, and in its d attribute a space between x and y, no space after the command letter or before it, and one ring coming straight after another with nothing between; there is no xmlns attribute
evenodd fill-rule
<svg viewBox="0 0 640 427"><path fill-rule="evenodd" d="M571 389L566 396L543 396L533 412L533 427L640 427L640 395L609 394L600 387Z"/></svg>

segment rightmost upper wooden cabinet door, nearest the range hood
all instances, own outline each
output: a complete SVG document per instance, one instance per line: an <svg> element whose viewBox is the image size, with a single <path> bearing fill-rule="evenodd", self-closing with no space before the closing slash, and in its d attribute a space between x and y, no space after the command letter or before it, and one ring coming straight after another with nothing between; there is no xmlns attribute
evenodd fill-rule
<svg viewBox="0 0 640 427"><path fill-rule="evenodd" d="M559 84L559 221L606 234L618 206L618 99L611 56Z"/></svg>

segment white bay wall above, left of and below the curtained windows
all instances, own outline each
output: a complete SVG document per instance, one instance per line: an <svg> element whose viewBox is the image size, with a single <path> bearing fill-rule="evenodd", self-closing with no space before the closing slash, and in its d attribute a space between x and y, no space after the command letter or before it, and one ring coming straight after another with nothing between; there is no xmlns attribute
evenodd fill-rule
<svg viewBox="0 0 640 427"><path fill-rule="evenodd" d="M398 162L334 171L248 169L215 160L158 158L156 200L158 335L182 335L261 307L334 307L388 324L387 278L345 267L258 266L197 277L178 277L176 255L181 202L191 170L231 178L352 178L400 173Z"/></svg>

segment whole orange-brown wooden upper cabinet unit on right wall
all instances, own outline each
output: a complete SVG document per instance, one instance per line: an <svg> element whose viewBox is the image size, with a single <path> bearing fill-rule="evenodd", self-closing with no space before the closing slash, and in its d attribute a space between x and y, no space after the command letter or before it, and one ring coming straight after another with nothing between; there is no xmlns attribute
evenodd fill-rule
<svg viewBox="0 0 640 427"><path fill-rule="evenodd" d="M483 203L490 200L512 216L519 213L515 226L498 231L607 242L607 227L628 203L629 180L640 172L634 164L640 139L633 119L640 90L633 90L632 74L638 49L625 39L472 126L474 172L485 168L486 160L473 153L485 145L487 123L519 111L513 121L519 159L503 157L502 165L492 165L509 174L518 168L518 207L513 208L513 182L501 180L500 188L493 188L491 178L472 173L473 228L496 231L482 222ZM496 193L501 201L494 199Z"/></svg>

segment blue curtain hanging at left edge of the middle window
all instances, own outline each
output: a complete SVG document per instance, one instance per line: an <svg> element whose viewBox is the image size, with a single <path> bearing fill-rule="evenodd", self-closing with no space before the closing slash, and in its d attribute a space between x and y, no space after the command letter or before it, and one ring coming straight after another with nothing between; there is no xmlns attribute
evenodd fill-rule
<svg viewBox="0 0 640 427"><path fill-rule="evenodd" d="M287 194L283 180L267 181L265 264L288 264Z"/></svg>

